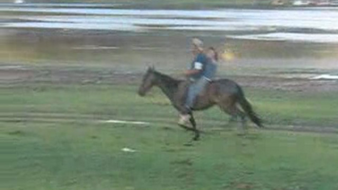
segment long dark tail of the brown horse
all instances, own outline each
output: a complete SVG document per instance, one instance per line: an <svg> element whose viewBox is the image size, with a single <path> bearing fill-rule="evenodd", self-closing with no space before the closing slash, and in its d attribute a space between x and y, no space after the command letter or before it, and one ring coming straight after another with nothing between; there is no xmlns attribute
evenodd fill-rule
<svg viewBox="0 0 338 190"><path fill-rule="evenodd" d="M245 98L244 92L242 89L238 87L238 102L240 106L243 108L244 112L249 116L250 120L255 123L258 127L264 127L262 124L262 120L258 117L258 115L253 111L250 102Z"/></svg>

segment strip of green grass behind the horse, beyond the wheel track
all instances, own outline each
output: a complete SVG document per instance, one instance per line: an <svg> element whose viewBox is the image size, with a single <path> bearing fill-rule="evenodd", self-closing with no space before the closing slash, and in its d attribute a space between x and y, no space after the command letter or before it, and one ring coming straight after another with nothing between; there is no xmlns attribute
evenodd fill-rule
<svg viewBox="0 0 338 190"><path fill-rule="evenodd" d="M89 114L107 119L174 122L177 112L158 89L146 97L136 86L120 85L31 85L2 88L0 113ZM304 93L244 89L255 110L272 125L337 127L336 92ZM15 115L12 115L13 117ZM226 125L228 116L217 107L197 112L199 122Z"/></svg>

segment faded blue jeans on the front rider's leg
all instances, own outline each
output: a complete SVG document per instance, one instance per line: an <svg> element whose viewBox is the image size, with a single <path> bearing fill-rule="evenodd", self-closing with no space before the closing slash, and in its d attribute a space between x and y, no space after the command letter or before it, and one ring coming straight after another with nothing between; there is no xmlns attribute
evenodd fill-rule
<svg viewBox="0 0 338 190"><path fill-rule="evenodd" d="M190 84L188 88L187 99L185 101L185 107L188 109L193 107L196 97L202 92L208 82L209 80L207 78L201 77Z"/></svg>

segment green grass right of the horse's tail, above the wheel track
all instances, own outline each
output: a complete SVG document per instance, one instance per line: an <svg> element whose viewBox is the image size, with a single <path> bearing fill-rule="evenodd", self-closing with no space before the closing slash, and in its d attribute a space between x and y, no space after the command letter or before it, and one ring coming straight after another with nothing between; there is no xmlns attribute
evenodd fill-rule
<svg viewBox="0 0 338 190"><path fill-rule="evenodd" d="M338 123L336 92L248 91L262 116L270 124L334 126Z"/></svg>

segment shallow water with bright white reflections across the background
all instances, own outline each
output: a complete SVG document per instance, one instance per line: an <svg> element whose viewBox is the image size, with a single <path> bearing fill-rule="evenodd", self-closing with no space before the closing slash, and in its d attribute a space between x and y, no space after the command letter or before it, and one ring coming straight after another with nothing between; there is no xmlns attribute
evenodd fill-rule
<svg viewBox="0 0 338 190"><path fill-rule="evenodd" d="M97 8L106 6L105 8ZM338 9L138 10L114 4L20 4L0 8L1 28L107 31L244 31L283 40L338 43ZM108 8L107 8L108 7ZM15 13L15 14L13 14ZM33 15L32 15L33 14ZM57 15L55 15L57 14ZM320 36L302 35L320 33ZM233 37L233 36L229 36ZM243 37L243 36L241 36ZM330 38L332 41L320 38ZM250 36L261 40L261 36ZM269 40L268 37L264 40ZM273 39L272 39L273 40Z"/></svg>

